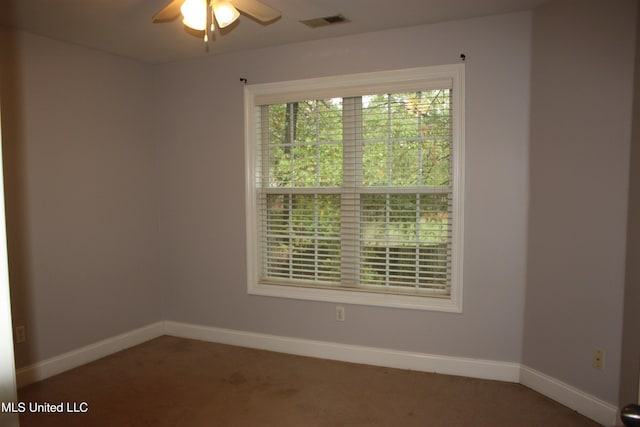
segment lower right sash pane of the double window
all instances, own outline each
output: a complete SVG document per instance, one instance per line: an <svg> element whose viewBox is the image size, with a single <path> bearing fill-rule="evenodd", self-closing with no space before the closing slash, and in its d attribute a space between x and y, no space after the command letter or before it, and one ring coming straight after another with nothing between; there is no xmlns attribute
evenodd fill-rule
<svg viewBox="0 0 640 427"><path fill-rule="evenodd" d="M363 285L449 292L448 194L361 196Z"/></svg>

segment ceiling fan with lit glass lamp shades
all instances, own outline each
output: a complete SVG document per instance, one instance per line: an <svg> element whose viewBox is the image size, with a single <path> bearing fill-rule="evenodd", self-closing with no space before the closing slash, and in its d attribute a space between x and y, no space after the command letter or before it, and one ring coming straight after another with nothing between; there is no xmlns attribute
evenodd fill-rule
<svg viewBox="0 0 640 427"><path fill-rule="evenodd" d="M240 12L269 23L280 17L280 12L258 0L172 0L158 13L153 15L153 22L173 21L182 14L182 22L189 28L205 32L207 26L214 31L214 22L219 28L232 24L240 16Z"/></svg>

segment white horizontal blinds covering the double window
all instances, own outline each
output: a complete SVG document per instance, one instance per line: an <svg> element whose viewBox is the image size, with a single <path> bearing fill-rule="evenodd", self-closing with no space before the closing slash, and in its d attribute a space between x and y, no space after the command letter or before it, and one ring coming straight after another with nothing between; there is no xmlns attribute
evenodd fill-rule
<svg viewBox="0 0 640 427"><path fill-rule="evenodd" d="M451 81L407 86L256 100L261 282L450 295Z"/></svg>

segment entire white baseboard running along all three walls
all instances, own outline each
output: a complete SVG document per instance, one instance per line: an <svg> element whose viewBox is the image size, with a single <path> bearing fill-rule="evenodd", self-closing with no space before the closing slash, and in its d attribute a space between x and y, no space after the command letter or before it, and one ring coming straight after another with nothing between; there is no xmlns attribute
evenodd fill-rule
<svg viewBox="0 0 640 427"><path fill-rule="evenodd" d="M364 363L421 372L516 382L605 426L617 423L618 408L569 384L512 362L412 353L314 341L180 322L156 322L133 331L18 369L18 387L41 381L162 335L277 351L299 356Z"/></svg>

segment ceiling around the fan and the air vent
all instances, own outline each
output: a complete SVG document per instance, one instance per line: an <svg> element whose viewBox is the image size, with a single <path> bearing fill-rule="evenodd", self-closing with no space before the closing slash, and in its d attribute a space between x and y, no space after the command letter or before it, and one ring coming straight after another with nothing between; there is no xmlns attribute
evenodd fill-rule
<svg viewBox="0 0 640 427"><path fill-rule="evenodd" d="M180 19L151 22L169 0L0 0L0 25L164 63L270 45L338 37L531 9L547 0L262 0L282 17L268 25L242 15L208 46ZM233 0L231 0L233 2ZM309 28L301 20L342 14L351 22Z"/></svg>

